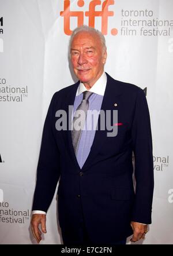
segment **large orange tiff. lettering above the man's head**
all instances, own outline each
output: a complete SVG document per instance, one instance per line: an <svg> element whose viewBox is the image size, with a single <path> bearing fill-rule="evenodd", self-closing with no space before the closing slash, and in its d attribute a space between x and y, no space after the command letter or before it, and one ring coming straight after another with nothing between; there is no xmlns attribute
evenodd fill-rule
<svg viewBox="0 0 173 256"><path fill-rule="evenodd" d="M108 10L110 5L114 5L114 0L106 0L102 3L100 0L93 0L89 3L89 10L85 13L82 11L72 11L70 10L70 0L64 1L64 10L60 12L60 15L64 18L64 32L66 35L72 35L72 30L70 30L70 17L77 17L77 26L84 25L84 14L88 17L89 27L95 27L95 17L101 18L101 33L107 35L108 30L108 17L114 16L114 12ZM77 5L81 8L85 5L83 0L78 0ZM101 10L96 10L96 6L101 5ZM111 29L111 34L118 34L116 28Z"/></svg>

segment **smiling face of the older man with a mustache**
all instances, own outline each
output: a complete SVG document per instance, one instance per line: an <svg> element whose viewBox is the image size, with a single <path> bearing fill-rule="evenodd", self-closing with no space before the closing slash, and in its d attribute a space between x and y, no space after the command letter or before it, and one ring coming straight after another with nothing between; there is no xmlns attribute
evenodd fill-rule
<svg viewBox="0 0 173 256"><path fill-rule="evenodd" d="M99 36L93 32L78 32L73 38L70 56L74 74L87 89L91 88L103 73L107 57Z"/></svg>

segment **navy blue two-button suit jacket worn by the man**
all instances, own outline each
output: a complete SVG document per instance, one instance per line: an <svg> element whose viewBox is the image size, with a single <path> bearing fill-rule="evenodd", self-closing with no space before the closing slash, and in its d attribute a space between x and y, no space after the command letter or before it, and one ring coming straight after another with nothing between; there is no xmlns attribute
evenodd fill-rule
<svg viewBox="0 0 173 256"><path fill-rule="evenodd" d="M52 97L43 129L33 210L47 211L61 177L58 187L61 228L75 230L82 214L95 243L114 243L133 233L130 221L151 223L153 156L148 105L142 89L115 81L107 74L101 109L117 109L118 123L122 125L118 126L115 137L107 137L107 130L96 131L89 156L80 169L71 131L55 129L55 112L58 109L68 112L78 84Z"/></svg>

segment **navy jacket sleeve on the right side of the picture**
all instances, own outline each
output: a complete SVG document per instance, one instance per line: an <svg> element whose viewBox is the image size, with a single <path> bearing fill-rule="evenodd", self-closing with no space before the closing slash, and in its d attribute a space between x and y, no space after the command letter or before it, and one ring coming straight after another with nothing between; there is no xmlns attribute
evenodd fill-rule
<svg viewBox="0 0 173 256"><path fill-rule="evenodd" d="M136 196L132 221L151 224L153 198L152 134L148 104L143 90L138 91L132 125L135 158Z"/></svg>

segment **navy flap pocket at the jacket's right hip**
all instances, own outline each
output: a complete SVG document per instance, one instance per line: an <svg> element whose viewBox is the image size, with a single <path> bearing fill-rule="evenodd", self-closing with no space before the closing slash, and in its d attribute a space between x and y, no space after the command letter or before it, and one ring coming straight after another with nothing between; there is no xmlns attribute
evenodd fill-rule
<svg viewBox="0 0 173 256"><path fill-rule="evenodd" d="M116 187L111 189L112 200L131 200L134 198L134 191L127 187Z"/></svg>

